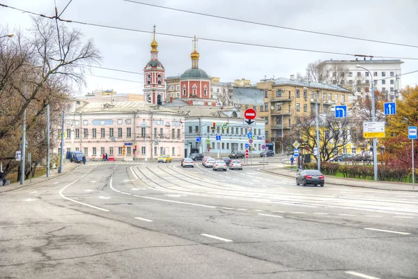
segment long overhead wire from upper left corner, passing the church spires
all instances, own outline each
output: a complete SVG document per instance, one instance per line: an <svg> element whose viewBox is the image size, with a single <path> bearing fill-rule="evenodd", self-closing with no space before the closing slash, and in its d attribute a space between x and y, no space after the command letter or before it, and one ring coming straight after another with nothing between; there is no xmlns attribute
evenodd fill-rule
<svg viewBox="0 0 418 279"><path fill-rule="evenodd" d="M153 31L130 29L130 28L124 28L124 27L113 27L113 26L104 25L104 24L93 24L93 23L88 23L88 22L79 22L79 21L75 21L75 20L62 20L61 18L56 17L56 16L48 17L46 15L41 15L41 14L38 14L38 13L33 13L33 12L22 10L22 9L19 9L19 8L6 6L6 5L3 5L1 3L0 3L0 6L6 7L6 8L13 8L15 10L21 10L25 13L30 13L31 15L38 15L40 17L46 17L46 18L49 18L49 19L54 19L55 20L56 18L58 18L58 20L61 20L62 22L72 22L72 23L89 25L89 26L94 26L94 27L102 27L102 28L107 28L107 29L117 29L117 30L124 30L124 31L133 31L133 32L139 32L139 33L153 34ZM171 36L171 37L176 37L176 38L187 38L187 39L193 39L194 38L194 36L185 36L185 35L178 35L178 34L171 34L171 33L157 33L157 32L155 32L155 33L158 34L158 35L161 35L161 36ZM323 54L355 56L355 54L349 54L349 53L343 53L343 52L327 52L327 51L322 51L322 50L308 50L308 49L300 49L300 48L295 48L295 47L279 47L279 46L275 46L275 45L261 45L261 44L256 44L256 43L234 42L234 41L231 41L231 40L219 40L219 39L203 38L203 37L196 37L196 38L199 39L199 40L207 40L207 41L217 42L217 43L229 43L229 44L234 44L234 45L249 45L249 46L253 46L253 47L268 47L268 48L279 49L279 50L295 50L295 51L300 51L300 52L315 52L315 53L323 53ZM379 57L387 58L387 59L418 60L418 58L408 58L408 57L393 57L393 56L382 56L382 55L374 55L374 56L379 56Z"/></svg>

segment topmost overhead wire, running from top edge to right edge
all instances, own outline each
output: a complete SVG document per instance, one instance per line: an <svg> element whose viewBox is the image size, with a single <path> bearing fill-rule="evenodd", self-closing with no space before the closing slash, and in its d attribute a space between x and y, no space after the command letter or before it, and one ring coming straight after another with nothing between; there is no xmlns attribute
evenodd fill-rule
<svg viewBox="0 0 418 279"><path fill-rule="evenodd" d="M267 23L263 23L263 22L251 22L249 20L240 20L238 18L223 17L221 15L211 15L211 14L208 14L208 13L199 13L199 12L194 12L192 10L182 10L182 9L178 9L178 8L171 8L171 7L167 7L167 6L160 6L160 5L138 2L138 1L132 1L132 0L122 0L122 1L130 2L130 3L137 3L139 5L151 6L151 7L155 7L155 8L164 8L164 9L167 9L167 10L176 10L176 11L182 12L182 13L191 13L191 14L194 14L194 15L203 15L205 17L215 17L215 18L219 18L219 19L222 19L222 20L232 20L232 21L235 21L235 22L244 22L244 23L249 23L249 24L256 24L256 25L261 25L261 26L265 26L265 27L274 27L274 28L287 29L287 30L299 31L299 32L304 32L304 33L313 33L313 34L323 35L323 36L346 38L346 39L351 39L351 40L363 40L363 41L367 41L367 42L383 43L383 44L387 44L387 45L399 45L399 46L403 46L403 47L418 47L417 45L407 45L407 44L402 44L402 43L385 42L383 40L371 40L371 39L366 39L366 38L356 38L356 37L351 37L351 36L343 36L343 35L337 35L337 34L325 33L325 32L319 32L319 31L310 31L310 30L297 29L297 28L291 28L291 27L282 27L282 26L279 26L279 25L267 24Z"/></svg>

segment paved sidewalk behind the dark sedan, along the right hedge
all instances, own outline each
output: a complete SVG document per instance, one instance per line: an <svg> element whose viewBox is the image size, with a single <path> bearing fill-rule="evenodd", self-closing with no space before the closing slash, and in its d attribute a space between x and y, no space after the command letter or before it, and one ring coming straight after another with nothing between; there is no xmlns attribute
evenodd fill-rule
<svg viewBox="0 0 418 279"><path fill-rule="evenodd" d="M262 172L270 172L272 174L279 174L282 176L288 176L293 179L296 179L296 171L287 169L286 167L274 167L270 169L260 169ZM412 189L412 183L401 183L401 182L389 182L389 181L366 181L359 179L347 179L339 178L333 176L325 176L325 186L326 184L334 184L339 186L349 186L349 187L360 187L360 188L371 188L379 190L396 190L396 191L408 191L408 192L417 192L418 185L415 185L415 190Z"/></svg>

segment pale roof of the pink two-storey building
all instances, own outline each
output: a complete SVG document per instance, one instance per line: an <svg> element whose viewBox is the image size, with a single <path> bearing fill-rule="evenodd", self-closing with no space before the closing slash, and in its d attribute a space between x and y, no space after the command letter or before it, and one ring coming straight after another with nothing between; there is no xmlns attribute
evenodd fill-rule
<svg viewBox="0 0 418 279"><path fill-rule="evenodd" d="M178 113L168 107L154 105L148 102L113 102L113 103L86 103L75 112L169 112Z"/></svg>

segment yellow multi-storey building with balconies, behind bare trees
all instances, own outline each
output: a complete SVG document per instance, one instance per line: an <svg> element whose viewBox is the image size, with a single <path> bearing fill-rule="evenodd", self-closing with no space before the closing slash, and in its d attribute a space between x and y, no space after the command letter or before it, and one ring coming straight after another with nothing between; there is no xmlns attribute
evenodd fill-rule
<svg viewBox="0 0 418 279"><path fill-rule="evenodd" d="M263 90L263 104L255 107L258 116L266 121L266 139L270 141L291 132L301 116L315 114L316 100L319 114L330 112L335 105L351 105L348 96L352 93L332 84L280 77L261 80L256 89Z"/></svg>

